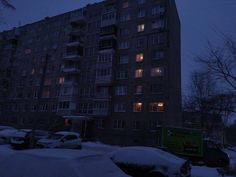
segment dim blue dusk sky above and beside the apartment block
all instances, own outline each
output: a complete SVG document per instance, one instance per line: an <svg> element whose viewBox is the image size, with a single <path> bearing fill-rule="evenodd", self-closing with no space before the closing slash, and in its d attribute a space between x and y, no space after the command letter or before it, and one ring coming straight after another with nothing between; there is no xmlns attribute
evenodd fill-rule
<svg viewBox="0 0 236 177"><path fill-rule="evenodd" d="M0 31L58 15L101 0L12 0L16 10L1 9ZM236 0L176 0L182 25L182 90L187 93L194 56L206 41L220 43L219 33L236 34Z"/></svg>

